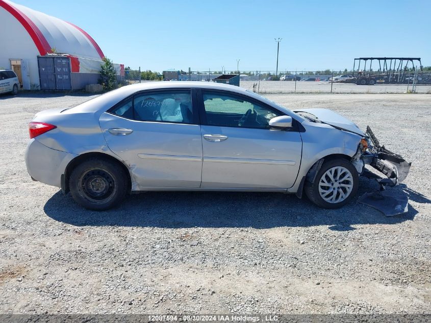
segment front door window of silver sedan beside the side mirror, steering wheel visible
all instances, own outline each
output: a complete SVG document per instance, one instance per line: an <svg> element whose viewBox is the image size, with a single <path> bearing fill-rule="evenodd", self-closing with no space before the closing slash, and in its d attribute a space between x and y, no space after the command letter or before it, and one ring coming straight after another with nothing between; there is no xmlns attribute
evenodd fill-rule
<svg viewBox="0 0 431 323"><path fill-rule="evenodd" d="M204 92L204 107L209 126L269 129L269 120L282 115L240 96Z"/></svg>

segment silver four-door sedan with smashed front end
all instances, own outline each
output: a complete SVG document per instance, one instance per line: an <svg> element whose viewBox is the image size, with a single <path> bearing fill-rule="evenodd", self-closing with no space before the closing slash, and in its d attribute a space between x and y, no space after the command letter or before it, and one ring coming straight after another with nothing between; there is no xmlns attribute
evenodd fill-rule
<svg viewBox="0 0 431 323"><path fill-rule="evenodd" d="M337 208L356 195L365 164L393 185L410 167L331 110L291 111L216 83L125 86L39 112L29 129L30 176L92 210L168 190L305 192Z"/></svg>

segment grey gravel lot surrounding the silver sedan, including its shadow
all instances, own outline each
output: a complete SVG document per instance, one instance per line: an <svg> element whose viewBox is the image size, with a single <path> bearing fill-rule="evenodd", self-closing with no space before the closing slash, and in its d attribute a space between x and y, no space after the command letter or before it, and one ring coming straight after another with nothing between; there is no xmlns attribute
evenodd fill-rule
<svg viewBox="0 0 431 323"><path fill-rule="evenodd" d="M91 97L0 96L0 313L431 312L431 95L267 95L333 108L412 161L396 217L277 193L142 193L83 210L31 181L24 150L34 113ZM360 194L374 189L361 180Z"/></svg>

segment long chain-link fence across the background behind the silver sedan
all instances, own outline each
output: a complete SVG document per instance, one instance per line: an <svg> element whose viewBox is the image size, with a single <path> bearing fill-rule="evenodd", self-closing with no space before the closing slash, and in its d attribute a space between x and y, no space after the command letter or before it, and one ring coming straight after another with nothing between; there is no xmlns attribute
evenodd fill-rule
<svg viewBox="0 0 431 323"><path fill-rule="evenodd" d="M431 70L406 69L401 72L378 71L141 71L125 69L118 75L119 85L150 81L215 82L222 74L240 76L240 86L256 93L428 93L431 94Z"/></svg>

